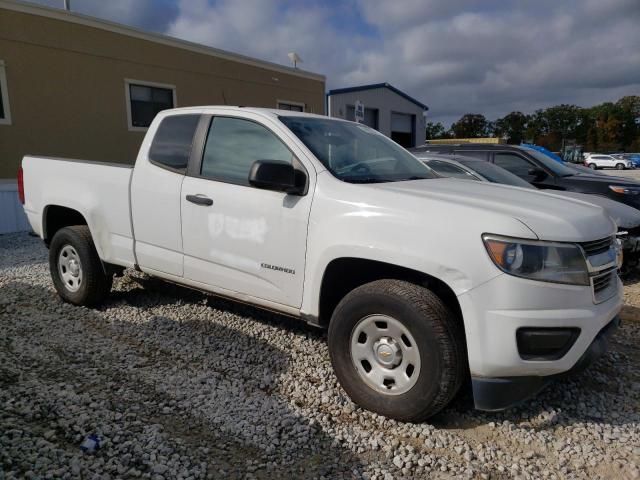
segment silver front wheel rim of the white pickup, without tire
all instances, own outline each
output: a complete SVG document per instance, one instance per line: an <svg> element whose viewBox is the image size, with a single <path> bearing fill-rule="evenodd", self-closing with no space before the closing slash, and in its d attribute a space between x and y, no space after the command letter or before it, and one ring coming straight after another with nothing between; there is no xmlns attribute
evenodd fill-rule
<svg viewBox="0 0 640 480"><path fill-rule="evenodd" d="M418 345L411 332L388 315L370 315L356 324L351 361L369 387L386 395L408 392L420 375Z"/></svg>

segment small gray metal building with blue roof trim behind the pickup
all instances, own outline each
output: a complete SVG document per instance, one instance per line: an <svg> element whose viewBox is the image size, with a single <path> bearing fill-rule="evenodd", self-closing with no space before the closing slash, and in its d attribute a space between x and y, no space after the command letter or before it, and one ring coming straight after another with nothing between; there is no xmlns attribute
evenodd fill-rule
<svg viewBox="0 0 640 480"><path fill-rule="evenodd" d="M355 121L356 106L364 107L359 121L385 134L403 147L422 145L425 140L424 103L388 83L338 88L327 94L330 117Z"/></svg>

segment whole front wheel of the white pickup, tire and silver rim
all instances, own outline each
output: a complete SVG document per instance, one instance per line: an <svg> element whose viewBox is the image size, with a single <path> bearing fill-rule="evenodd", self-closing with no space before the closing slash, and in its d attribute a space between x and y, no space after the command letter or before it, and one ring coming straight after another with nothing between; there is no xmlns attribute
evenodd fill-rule
<svg viewBox="0 0 640 480"><path fill-rule="evenodd" d="M358 405L423 421L455 396L466 374L464 332L431 291L378 280L350 292L329 325L340 384Z"/></svg>

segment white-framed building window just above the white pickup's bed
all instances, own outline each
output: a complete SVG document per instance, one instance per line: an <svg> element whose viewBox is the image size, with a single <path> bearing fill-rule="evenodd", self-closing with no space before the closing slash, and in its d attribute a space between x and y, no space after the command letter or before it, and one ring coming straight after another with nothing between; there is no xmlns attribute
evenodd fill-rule
<svg viewBox="0 0 640 480"><path fill-rule="evenodd" d="M176 87L125 80L129 130L146 130L156 114L176 106Z"/></svg>

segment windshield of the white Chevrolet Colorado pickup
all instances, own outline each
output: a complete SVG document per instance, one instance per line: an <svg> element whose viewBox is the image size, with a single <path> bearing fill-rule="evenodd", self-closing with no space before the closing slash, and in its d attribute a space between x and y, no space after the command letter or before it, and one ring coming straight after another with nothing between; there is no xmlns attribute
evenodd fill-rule
<svg viewBox="0 0 640 480"><path fill-rule="evenodd" d="M313 117L280 117L336 178L350 183L436 178L404 148L365 125Z"/></svg>

